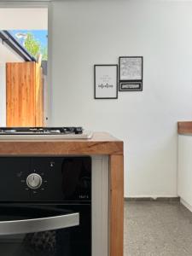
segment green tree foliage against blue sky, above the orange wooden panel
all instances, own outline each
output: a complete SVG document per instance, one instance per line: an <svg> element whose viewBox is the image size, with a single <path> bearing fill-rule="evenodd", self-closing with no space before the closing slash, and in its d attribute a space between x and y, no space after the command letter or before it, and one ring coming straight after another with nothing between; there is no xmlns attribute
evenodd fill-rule
<svg viewBox="0 0 192 256"><path fill-rule="evenodd" d="M25 48L35 58L38 58L40 53L42 54L42 59L47 61L47 47L41 47L40 42L30 32L27 33Z"/></svg>

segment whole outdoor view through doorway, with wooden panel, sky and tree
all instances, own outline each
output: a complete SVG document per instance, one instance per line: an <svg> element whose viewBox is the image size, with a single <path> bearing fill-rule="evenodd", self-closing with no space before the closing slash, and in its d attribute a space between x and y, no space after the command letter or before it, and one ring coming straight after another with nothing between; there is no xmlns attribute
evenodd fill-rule
<svg viewBox="0 0 192 256"><path fill-rule="evenodd" d="M0 8L0 126L48 119L48 10Z"/></svg>

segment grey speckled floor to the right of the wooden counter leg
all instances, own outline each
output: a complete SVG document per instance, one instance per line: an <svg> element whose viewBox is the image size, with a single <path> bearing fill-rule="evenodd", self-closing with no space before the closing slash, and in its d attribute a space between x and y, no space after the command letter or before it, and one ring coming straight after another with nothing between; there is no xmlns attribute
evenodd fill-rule
<svg viewBox="0 0 192 256"><path fill-rule="evenodd" d="M179 202L125 202L124 256L192 256L192 213Z"/></svg>

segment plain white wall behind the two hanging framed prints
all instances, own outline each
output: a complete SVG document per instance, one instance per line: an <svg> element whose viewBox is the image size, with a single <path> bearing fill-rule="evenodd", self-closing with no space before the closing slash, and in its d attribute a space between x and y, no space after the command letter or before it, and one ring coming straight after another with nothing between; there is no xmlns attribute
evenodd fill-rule
<svg viewBox="0 0 192 256"><path fill-rule="evenodd" d="M192 3L52 3L52 125L125 142L125 196L177 195L177 120L192 119ZM143 92L93 99L93 65L143 55Z"/></svg>

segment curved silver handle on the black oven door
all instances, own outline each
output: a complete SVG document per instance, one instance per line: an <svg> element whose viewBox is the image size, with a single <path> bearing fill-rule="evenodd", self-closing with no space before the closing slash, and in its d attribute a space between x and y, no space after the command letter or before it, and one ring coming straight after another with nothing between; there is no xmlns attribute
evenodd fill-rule
<svg viewBox="0 0 192 256"><path fill-rule="evenodd" d="M79 225L79 212L47 218L0 221L0 235L60 230Z"/></svg>

